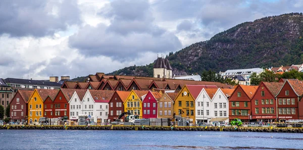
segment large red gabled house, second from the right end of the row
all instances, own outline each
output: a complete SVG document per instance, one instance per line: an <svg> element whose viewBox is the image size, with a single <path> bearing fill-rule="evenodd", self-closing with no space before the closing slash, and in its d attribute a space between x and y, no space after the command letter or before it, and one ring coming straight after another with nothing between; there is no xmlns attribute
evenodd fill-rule
<svg viewBox="0 0 303 150"><path fill-rule="evenodd" d="M277 119L276 95L283 86L281 82L261 82L251 98L251 119L275 122Z"/></svg>

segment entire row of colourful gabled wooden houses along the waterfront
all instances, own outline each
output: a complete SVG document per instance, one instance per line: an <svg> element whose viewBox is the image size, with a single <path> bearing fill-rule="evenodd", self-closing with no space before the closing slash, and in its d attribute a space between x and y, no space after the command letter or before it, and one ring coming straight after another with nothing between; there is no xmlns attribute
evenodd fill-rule
<svg viewBox="0 0 303 150"><path fill-rule="evenodd" d="M192 124L234 118L272 122L303 119L302 94L303 83L297 79L235 88L186 84L180 90L18 90L10 103L10 116L12 122L30 124L37 123L40 117L77 120L81 114L94 122L108 122L128 111L140 118L185 117Z"/></svg>

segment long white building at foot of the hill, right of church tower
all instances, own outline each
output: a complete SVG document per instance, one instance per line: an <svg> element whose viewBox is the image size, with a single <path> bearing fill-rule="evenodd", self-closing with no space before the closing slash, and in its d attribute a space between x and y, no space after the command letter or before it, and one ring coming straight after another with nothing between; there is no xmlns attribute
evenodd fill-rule
<svg viewBox="0 0 303 150"><path fill-rule="evenodd" d="M223 78L234 78L234 76L240 75L245 79L245 84L244 85L250 85L250 76L254 72L259 74L259 73L263 72L263 69L261 69L261 68L250 68L250 69L227 70L224 73L222 73L222 75L223 75Z"/></svg>

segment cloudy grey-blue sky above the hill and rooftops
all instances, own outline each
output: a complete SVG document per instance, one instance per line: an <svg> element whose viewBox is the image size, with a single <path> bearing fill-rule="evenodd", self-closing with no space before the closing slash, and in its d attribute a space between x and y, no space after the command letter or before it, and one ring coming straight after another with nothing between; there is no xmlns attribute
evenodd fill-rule
<svg viewBox="0 0 303 150"><path fill-rule="evenodd" d="M146 65L303 1L0 1L0 78L48 79Z"/></svg>

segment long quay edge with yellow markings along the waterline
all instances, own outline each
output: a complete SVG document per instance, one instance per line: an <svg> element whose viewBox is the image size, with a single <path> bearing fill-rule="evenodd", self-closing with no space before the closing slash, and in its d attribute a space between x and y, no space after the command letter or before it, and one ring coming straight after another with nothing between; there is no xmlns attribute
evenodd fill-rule
<svg viewBox="0 0 303 150"><path fill-rule="evenodd" d="M303 128L293 127L187 127L187 126L55 126L55 125L5 125L0 129L7 130L173 130L173 131L232 131L232 132L288 132L303 133Z"/></svg>

